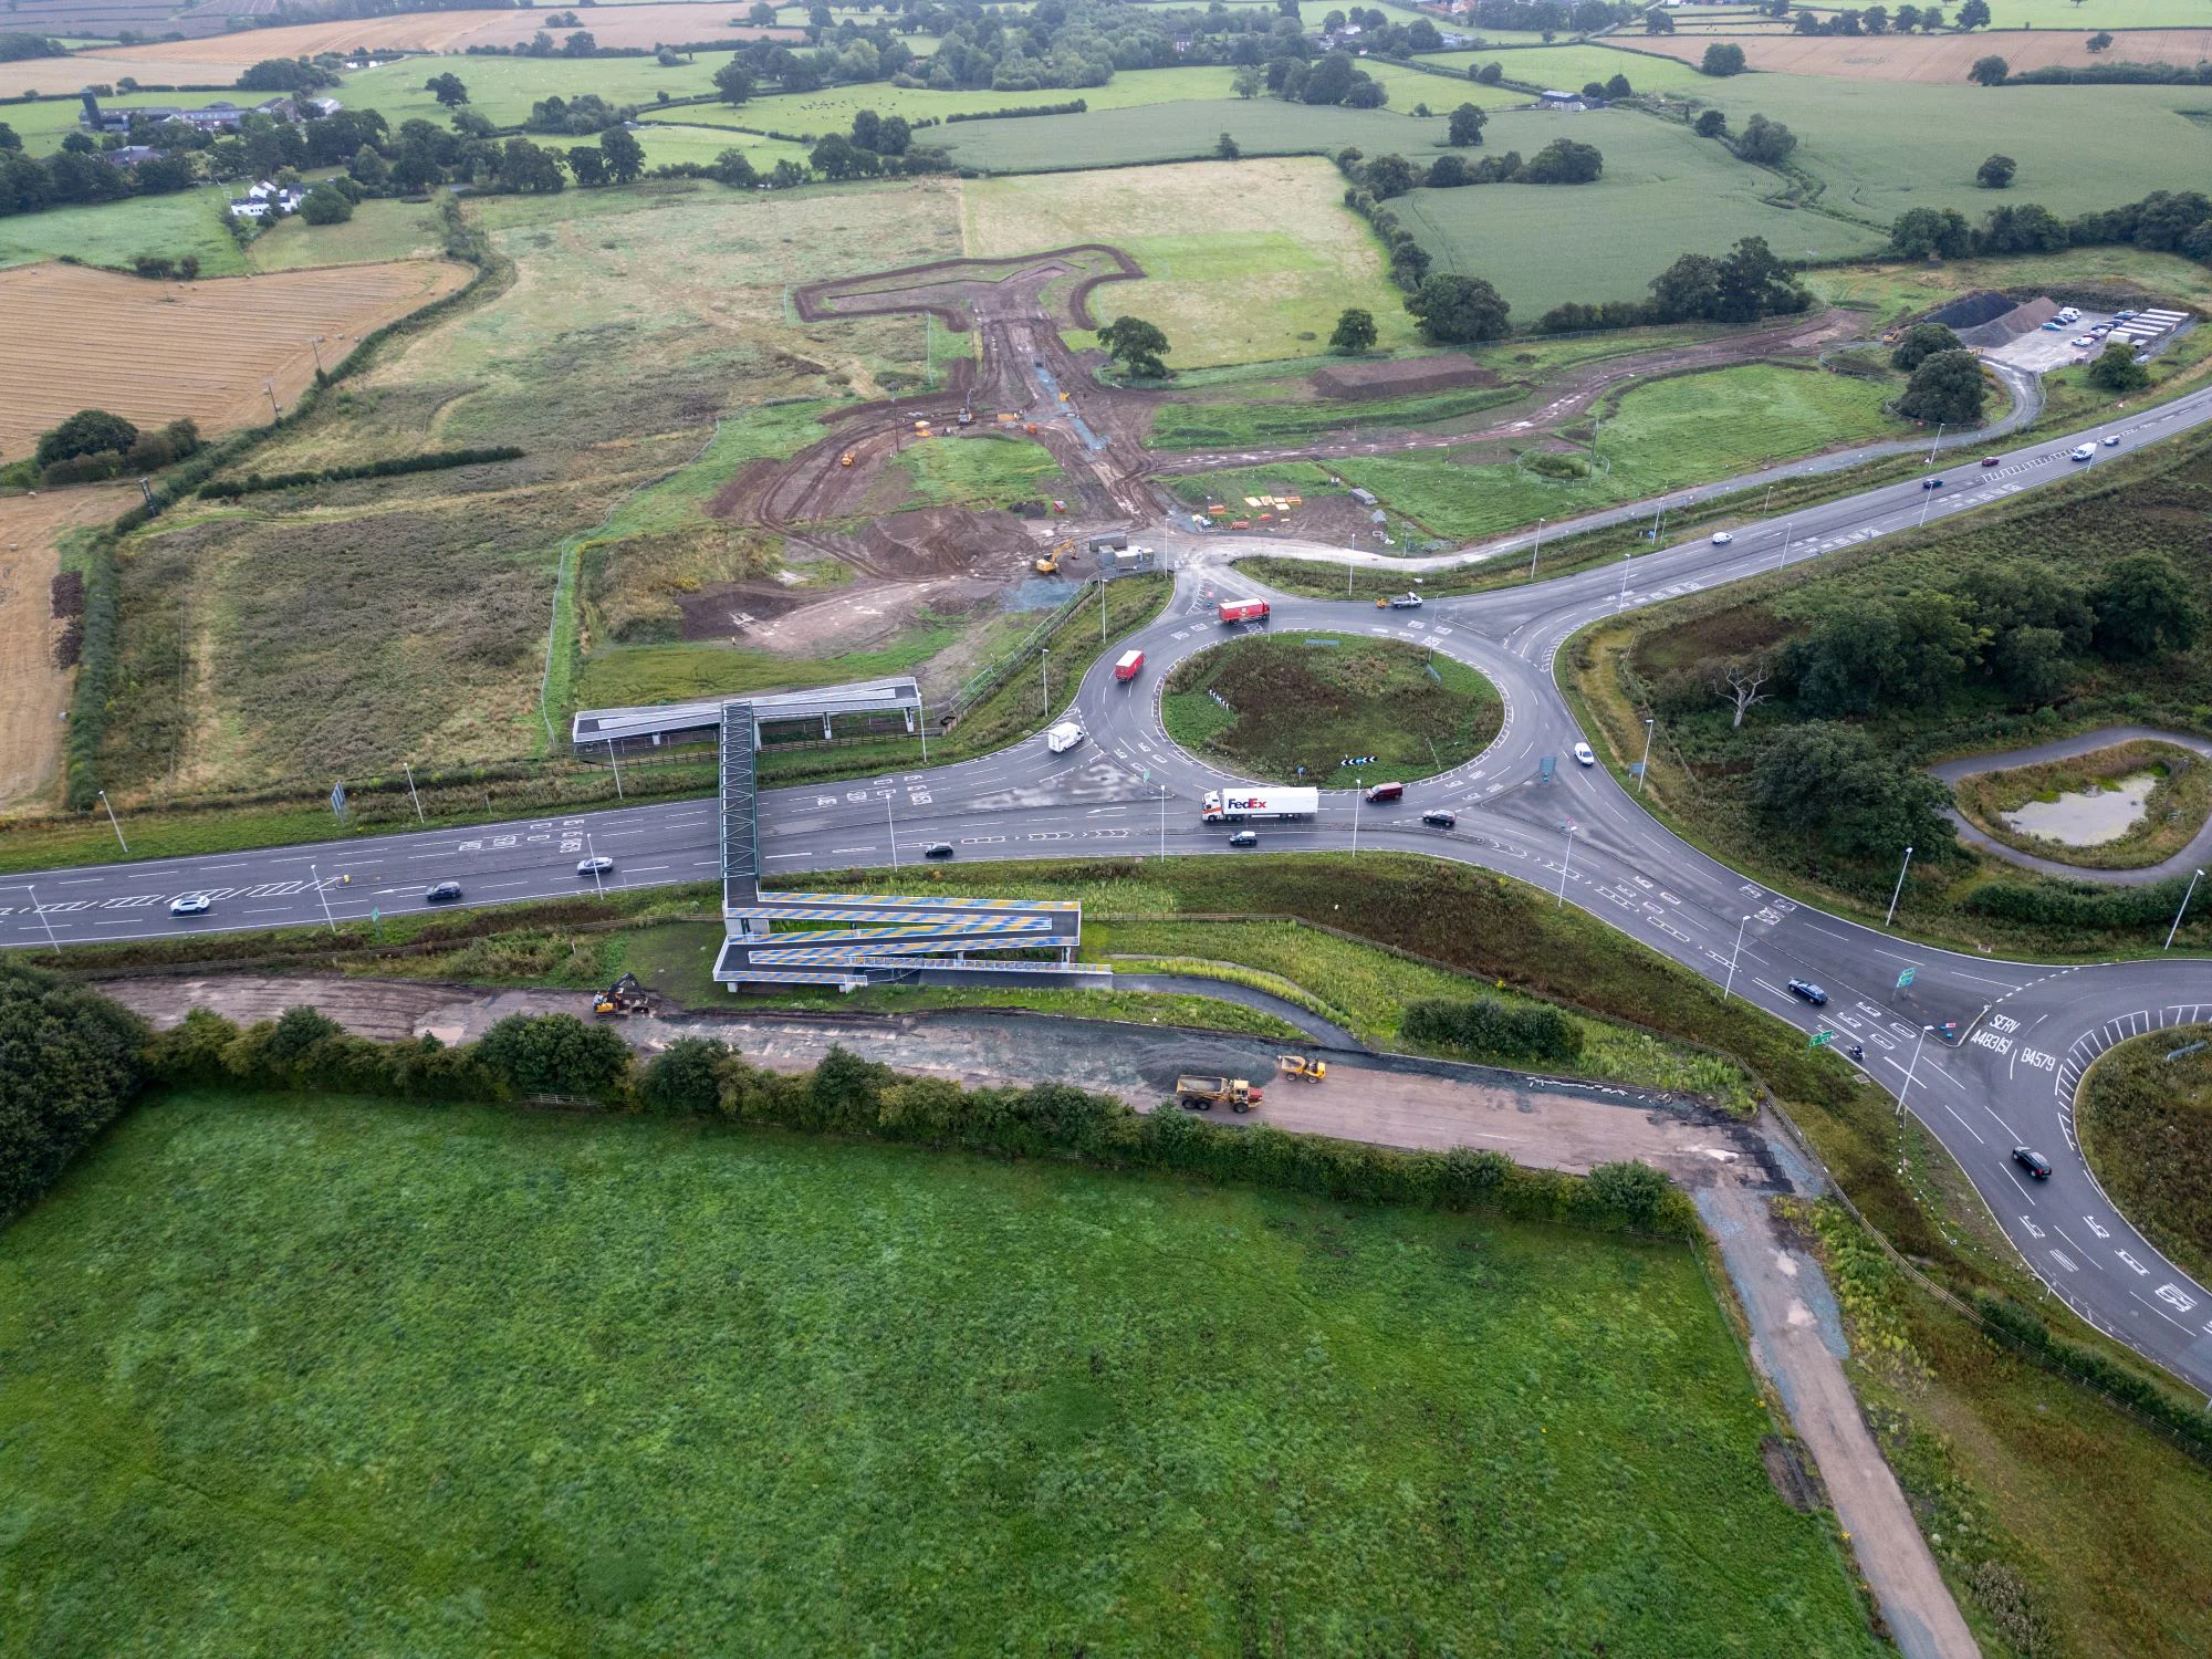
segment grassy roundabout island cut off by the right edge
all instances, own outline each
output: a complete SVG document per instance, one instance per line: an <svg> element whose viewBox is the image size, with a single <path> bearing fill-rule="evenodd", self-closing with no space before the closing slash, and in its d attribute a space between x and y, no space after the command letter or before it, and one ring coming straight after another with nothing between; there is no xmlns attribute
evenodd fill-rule
<svg viewBox="0 0 2212 1659"><path fill-rule="evenodd" d="M2081 1150L2150 1239L2212 1279L2212 1026L2174 1026L2104 1053L2075 1099Z"/></svg>

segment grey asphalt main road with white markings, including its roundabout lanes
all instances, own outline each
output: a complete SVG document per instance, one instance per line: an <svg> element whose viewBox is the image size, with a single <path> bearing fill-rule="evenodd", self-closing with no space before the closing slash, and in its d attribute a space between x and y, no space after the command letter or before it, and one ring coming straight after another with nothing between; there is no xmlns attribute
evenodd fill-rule
<svg viewBox="0 0 2212 1659"><path fill-rule="evenodd" d="M1860 1044L1865 1071L1920 1117L1989 1201L2028 1267L2077 1314L2212 1391L2212 1292L2161 1256L2099 1190L2075 1148L2073 1088L2112 1042L2212 1018L2212 962L2172 958L2055 969L1916 945L1798 907L1708 858L1655 823L1604 768L1582 768L1582 737L1553 684L1553 655L1588 622L1628 606L1736 582L1878 535L1936 522L2212 420L2212 389L2093 431L2006 451L1997 467L1951 465L1940 491L1918 480L1759 522L1725 546L1668 546L1619 566L1440 599L1420 611L1267 595L1274 628L1360 630L1407 639L1486 672L1504 692L1504 730L1480 757L1409 783L1405 799L1365 807L1352 792L1321 814L1254 825L1261 849L1400 849L1484 865L1555 891L1838 1048ZM2117 445L2104 438L2115 436ZM2095 462L2070 462L2075 445ZM768 876L880 867L949 841L967 858L1225 854L1228 834L1199 823L1197 799L1237 779L1168 741L1159 684L1181 657L1223 637L1219 597L1259 597L1228 562L1239 546L1199 542L1168 613L1128 644L1146 653L1133 686L1110 659L1084 679L1077 710L1091 741L1048 754L1042 737L960 765L761 794ZM1267 551L1281 551L1270 544ZM1338 555L1340 557L1340 555ZM1409 562L1416 566L1422 562ZM1544 761L1551 757L1551 779ZM1451 832L1420 814L1449 807ZM615 858L608 887L710 880L719 872L712 801L617 807L493 827L434 830L204 858L117 863L0 878L0 945L157 938L321 925L425 907L458 880L469 905L588 891L586 854ZM204 918L173 918L188 891L215 896ZM33 902L35 898L35 902ZM1900 978L1911 980L1900 987ZM1825 1006L1787 991L1812 980ZM1955 1022L1955 1040L1927 1029ZM2028 1181L2013 1146L2044 1152Z"/></svg>

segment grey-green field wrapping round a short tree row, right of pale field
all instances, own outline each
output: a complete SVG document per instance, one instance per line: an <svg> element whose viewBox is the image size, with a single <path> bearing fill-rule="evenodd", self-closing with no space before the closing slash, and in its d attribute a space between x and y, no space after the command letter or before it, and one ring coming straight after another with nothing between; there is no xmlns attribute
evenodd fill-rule
<svg viewBox="0 0 2212 1659"><path fill-rule="evenodd" d="M1781 188L1772 173L1637 111L1515 111L1493 115L1482 139L1486 153L1535 155L1562 135L1604 153L1597 184L1413 190L1391 204L1438 270L1489 279L1513 305L1515 323L1533 323L1568 299L1644 299L1650 279L1681 254L1723 254L1739 237L1765 237L1783 259L1836 259L1889 241L1885 232L1765 201Z"/></svg>

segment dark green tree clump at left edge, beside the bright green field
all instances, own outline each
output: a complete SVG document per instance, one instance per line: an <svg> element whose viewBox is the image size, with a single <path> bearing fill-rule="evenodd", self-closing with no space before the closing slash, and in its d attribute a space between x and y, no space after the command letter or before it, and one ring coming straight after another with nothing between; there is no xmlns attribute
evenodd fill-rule
<svg viewBox="0 0 2212 1659"><path fill-rule="evenodd" d="M0 958L0 1217L35 1201L122 1115L144 1037L106 998Z"/></svg>

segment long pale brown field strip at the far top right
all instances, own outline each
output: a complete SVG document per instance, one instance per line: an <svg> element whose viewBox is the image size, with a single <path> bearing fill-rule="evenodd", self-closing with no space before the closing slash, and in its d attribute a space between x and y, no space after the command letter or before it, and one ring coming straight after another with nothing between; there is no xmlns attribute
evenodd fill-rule
<svg viewBox="0 0 2212 1659"><path fill-rule="evenodd" d="M2015 29L1971 35L1648 35L1637 51L1697 62L1705 46L1732 40L1759 71L1836 80L1918 80L1964 86L1978 58L1995 53L2013 73L2066 64L2181 64L2212 58L2212 29L2130 29L2093 53L2090 31ZM1635 71L1626 71L1635 80Z"/></svg>

